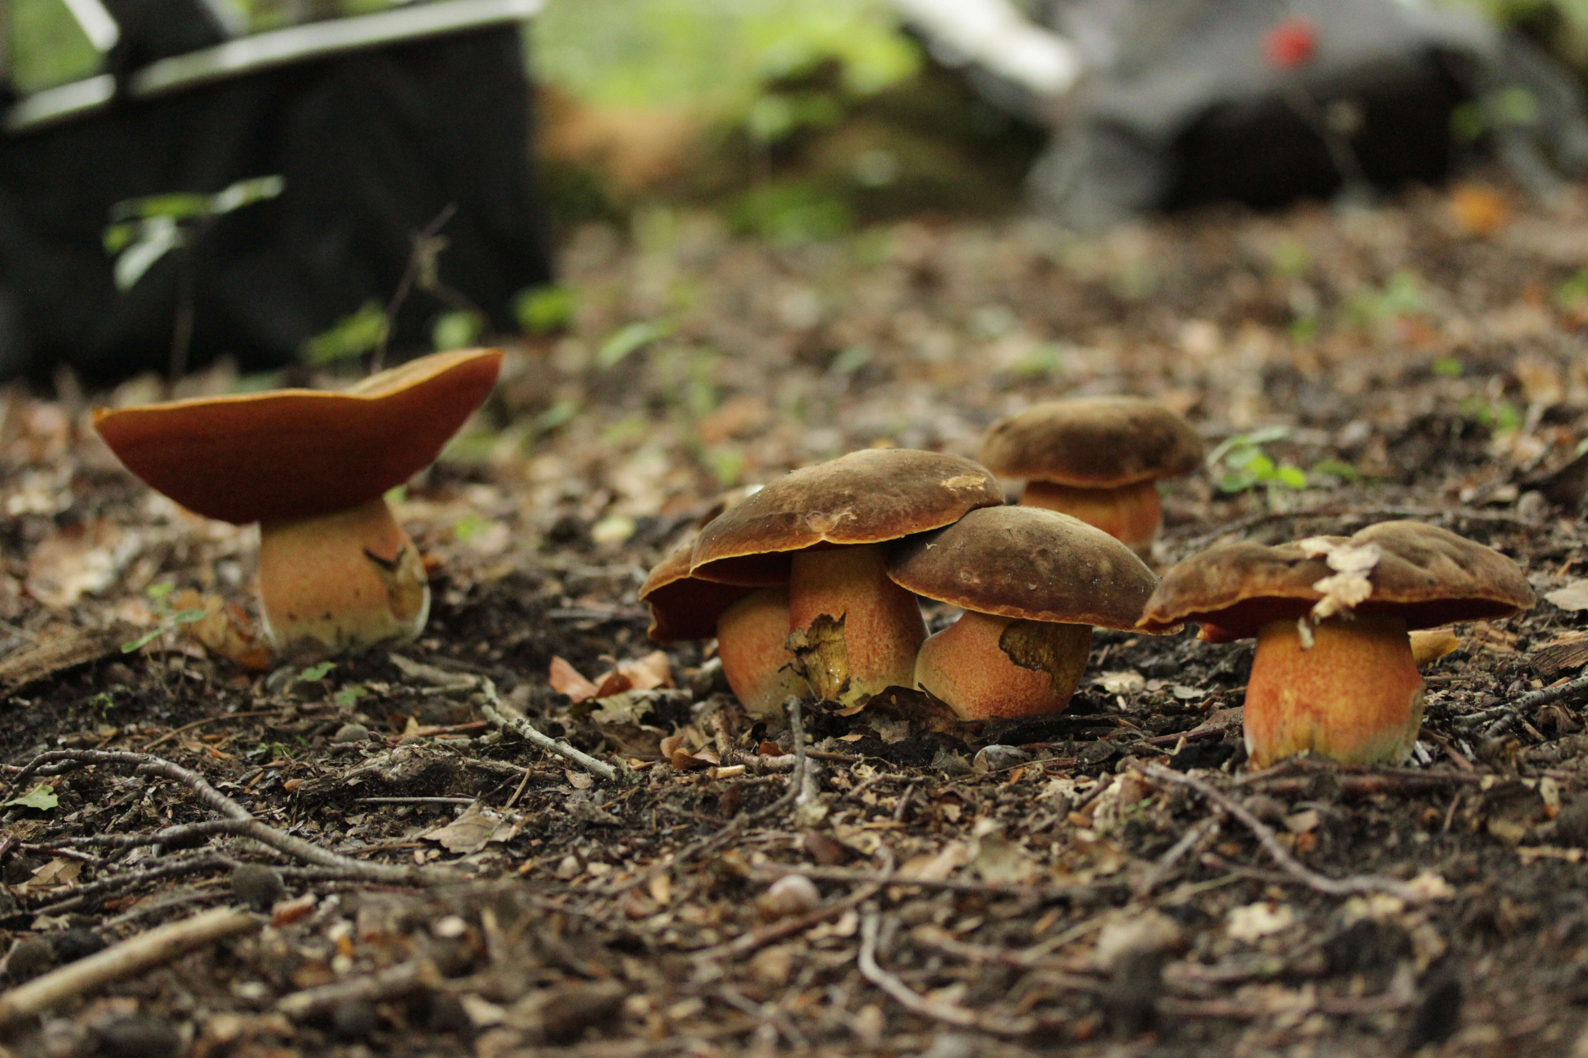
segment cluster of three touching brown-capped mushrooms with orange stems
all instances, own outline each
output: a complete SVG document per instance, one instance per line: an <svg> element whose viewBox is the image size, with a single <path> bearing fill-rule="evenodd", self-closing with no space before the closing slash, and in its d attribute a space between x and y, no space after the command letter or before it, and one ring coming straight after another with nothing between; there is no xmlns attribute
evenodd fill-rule
<svg viewBox="0 0 1588 1058"><path fill-rule="evenodd" d="M921 685L966 719L1062 711L1091 625L1129 628L1156 579L1072 517L1002 506L970 460L869 449L797 470L651 573L651 638L713 631L753 712ZM966 609L927 638L916 596ZM796 655L797 652L797 655Z"/></svg>

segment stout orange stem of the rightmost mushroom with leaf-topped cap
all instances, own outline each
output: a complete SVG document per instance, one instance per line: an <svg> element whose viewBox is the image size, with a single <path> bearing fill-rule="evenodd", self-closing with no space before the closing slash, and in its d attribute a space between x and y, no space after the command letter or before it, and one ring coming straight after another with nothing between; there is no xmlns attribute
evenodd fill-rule
<svg viewBox="0 0 1588 1058"><path fill-rule="evenodd" d="M1266 768L1312 750L1347 765L1397 765L1423 723L1423 677L1405 619L1324 620L1304 646L1296 620L1258 631L1247 684L1247 753Z"/></svg>

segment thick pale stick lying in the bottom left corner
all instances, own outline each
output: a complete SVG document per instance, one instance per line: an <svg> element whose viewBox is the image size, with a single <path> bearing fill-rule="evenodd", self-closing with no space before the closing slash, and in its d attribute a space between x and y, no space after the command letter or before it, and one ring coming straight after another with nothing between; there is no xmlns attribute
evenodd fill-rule
<svg viewBox="0 0 1588 1058"><path fill-rule="evenodd" d="M205 944L252 933L262 925L264 918L246 910L216 907L156 926L0 995L0 1025L41 1014L100 985L162 966Z"/></svg>

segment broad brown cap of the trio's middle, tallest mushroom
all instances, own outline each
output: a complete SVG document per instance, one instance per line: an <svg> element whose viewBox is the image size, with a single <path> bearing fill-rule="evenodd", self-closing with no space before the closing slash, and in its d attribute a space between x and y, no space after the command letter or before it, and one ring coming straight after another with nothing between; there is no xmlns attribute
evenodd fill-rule
<svg viewBox="0 0 1588 1058"><path fill-rule="evenodd" d="M1004 503L983 466L916 449L865 449L796 470L700 530L691 574L726 584L777 584L789 552L880 544Z"/></svg>

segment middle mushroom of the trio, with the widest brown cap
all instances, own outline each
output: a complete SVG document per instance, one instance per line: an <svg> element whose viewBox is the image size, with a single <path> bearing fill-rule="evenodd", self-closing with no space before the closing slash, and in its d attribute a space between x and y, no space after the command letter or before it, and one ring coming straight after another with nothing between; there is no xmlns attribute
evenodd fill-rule
<svg viewBox="0 0 1588 1058"><path fill-rule="evenodd" d="M724 511L700 530L689 576L746 587L788 582L788 633L804 639L811 688L856 703L908 685L926 639L915 596L888 579L885 544L1000 503L997 481L967 458L851 452L792 471ZM761 611L757 627L765 619Z"/></svg>

